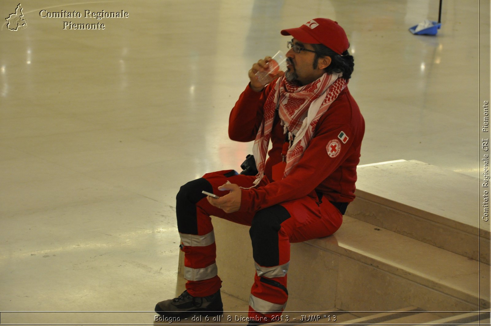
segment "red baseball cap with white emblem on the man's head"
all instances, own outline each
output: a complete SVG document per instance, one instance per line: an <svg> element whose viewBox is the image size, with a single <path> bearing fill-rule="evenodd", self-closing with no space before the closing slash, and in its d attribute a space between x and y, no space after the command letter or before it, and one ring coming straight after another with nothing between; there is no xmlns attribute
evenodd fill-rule
<svg viewBox="0 0 491 326"><path fill-rule="evenodd" d="M315 18L300 27L283 29L281 35L292 35L302 43L324 44L337 54L350 47L343 27L327 18Z"/></svg>

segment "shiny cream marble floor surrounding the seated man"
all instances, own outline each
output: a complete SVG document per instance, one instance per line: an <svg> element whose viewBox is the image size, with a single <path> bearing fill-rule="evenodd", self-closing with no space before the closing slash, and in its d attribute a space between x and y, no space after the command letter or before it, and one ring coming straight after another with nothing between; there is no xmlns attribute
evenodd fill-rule
<svg viewBox="0 0 491 326"><path fill-rule="evenodd" d="M227 120L247 71L312 18L350 39L360 164L480 176L487 0L443 1L436 36L408 31L437 19L436 0L24 0L8 25L18 5L0 2L0 311L140 311L131 323L153 324L176 291L177 190L239 168L252 144L229 140Z"/></svg>

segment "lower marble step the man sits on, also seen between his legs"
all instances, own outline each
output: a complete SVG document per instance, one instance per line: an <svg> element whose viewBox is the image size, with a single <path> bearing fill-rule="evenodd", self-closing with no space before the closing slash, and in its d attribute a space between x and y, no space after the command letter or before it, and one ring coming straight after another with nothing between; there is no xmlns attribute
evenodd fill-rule
<svg viewBox="0 0 491 326"><path fill-rule="evenodd" d="M248 227L218 217L212 221L222 290L248 302L255 272ZM181 255L181 266L183 261ZM489 270L487 264L345 216L333 236L291 245L286 311L401 306L474 311L490 306ZM178 275L183 279L182 269Z"/></svg>

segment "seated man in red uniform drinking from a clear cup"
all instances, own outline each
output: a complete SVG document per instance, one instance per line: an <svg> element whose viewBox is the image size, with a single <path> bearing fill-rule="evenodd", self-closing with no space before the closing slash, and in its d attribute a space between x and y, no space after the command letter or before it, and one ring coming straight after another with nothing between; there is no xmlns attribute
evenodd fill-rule
<svg viewBox="0 0 491 326"><path fill-rule="evenodd" d="M187 283L178 298L157 303L162 316L222 314L210 218L216 216L250 226L256 274L247 320L271 323L288 299L290 243L336 232L355 198L365 127L347 87L354 60L346 33L337 22L316 18L281 34L293 37L288 70L264 86L256 73L272 64L271 57L254 63L229 118L231 139L254 140L257 175L208 173L177 194Z"/></svg>

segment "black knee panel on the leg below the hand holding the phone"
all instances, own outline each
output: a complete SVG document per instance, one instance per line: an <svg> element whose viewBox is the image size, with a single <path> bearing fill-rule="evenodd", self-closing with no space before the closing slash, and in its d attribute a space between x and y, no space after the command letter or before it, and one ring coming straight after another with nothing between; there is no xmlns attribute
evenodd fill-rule
<svg viewBox="0 0 491 326"><path fill-rule="evenodd" d="M177 229L181 233L198 234L196 203L206 197L201 191L213 193L212 185L203 178L188 182L176 196Z"/></svg>

